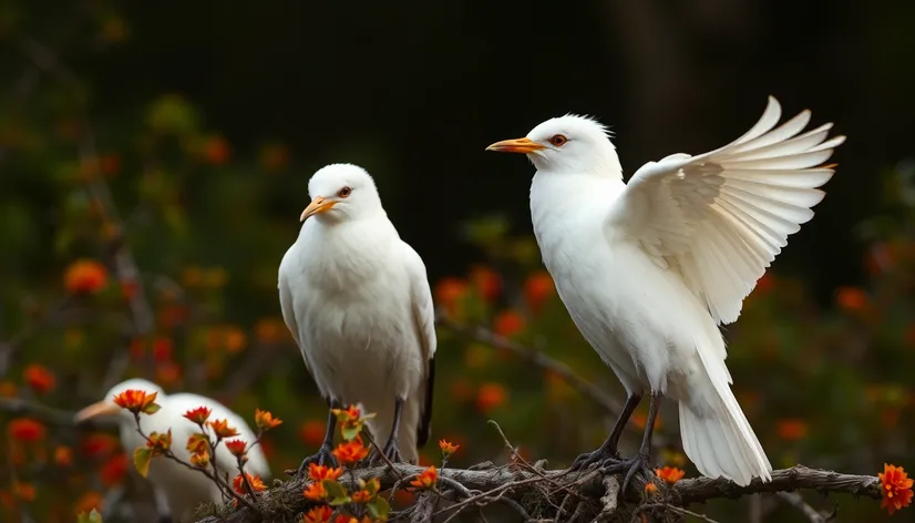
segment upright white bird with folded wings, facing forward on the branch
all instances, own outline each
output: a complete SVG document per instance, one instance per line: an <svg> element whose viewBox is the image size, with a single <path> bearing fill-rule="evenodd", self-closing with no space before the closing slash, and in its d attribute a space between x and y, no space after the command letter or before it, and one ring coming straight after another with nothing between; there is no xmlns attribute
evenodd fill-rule
<svg viewBox="0 0 915 523"><path fill-rule="evenodd" d="M391 460L415 463L429 439L435 316L422 258L403 240L363 168L322 167L279 266L279 300L305 365L331 409L361 403ZM310 219L309 219L310 218ZM329 413L320 451L333 463ZM387 440L382 440L387 438ZM372 461L380 459L372 455Z"/></svg>

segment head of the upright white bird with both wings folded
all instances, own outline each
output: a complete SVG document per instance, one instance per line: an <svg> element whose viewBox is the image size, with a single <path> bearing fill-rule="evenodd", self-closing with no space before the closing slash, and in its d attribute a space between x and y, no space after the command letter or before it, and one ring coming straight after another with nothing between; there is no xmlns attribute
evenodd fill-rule
<svg viewBox="0 0 915 523"><path fill-rule="evenodd" d="M299 219L311 216L322 222L371 217L383 214L374 181L364 168L352 164L331 164L318 170L308 182L311 203Z"/></svg>

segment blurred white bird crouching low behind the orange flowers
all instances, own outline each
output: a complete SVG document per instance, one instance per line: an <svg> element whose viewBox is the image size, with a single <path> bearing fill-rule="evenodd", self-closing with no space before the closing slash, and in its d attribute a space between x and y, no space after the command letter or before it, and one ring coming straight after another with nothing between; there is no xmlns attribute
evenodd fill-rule
<svg viewBox="0 0 915 523"><path fill-rule="evenodd" d="M121 409L114 403L114 398L121 392L136 389L147 393L156 392L155 402L161 409L154 414L141 414L140 427L146 435L152 432L167 432L172 429L172 452L185 463L191 463L191 453L186 450L187 440L194 432L199 432L196 424L184 418L184 413L197 407L206 407L212 410L209 420L225 419L229 427L238 430L238 435L230 440L240 439L248 444L255 441L255 433L245 420L230 411L218 401L192 393L166 394L161 387L143 379L131 379L114 386L105 399L86 407L75 416L78 422L100 418L115 417L121 432L121 444L128 455L133 454L137 447L145 447L146 441L136 431L136 422L131 412ZM209 435L213 432L209 428ZM216 449L214 460L220 474L228 472L229 479L238 474L236 459L224 444ZM249 474L259 474L263 480L270 476L270 469L260 445L248 450L248 462L245 470ZM196 521L194 513L203 503L223 503L223 496L216 484L202 472L187 469L172 460L154 458L150 464L147 475L153 486L164 494L167 501L172 519L176 523L189 523Z"/></svg>

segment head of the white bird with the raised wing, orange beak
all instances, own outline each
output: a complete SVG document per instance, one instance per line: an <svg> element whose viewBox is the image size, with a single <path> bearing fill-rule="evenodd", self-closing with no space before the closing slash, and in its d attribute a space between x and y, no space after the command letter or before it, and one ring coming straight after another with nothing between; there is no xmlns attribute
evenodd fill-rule
<svg viewBox="0 0 915 523"><path fill-rule="evenodd" d="M573 114L549 119L532 129L527 136L496 142L486 151L524 153L541 172L620 171L607 127L590 117Z"/></svg>

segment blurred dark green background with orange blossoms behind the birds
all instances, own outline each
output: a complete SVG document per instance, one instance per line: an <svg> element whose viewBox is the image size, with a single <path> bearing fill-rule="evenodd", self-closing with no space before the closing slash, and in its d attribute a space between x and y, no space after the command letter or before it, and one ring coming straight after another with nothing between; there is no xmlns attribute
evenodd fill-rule
<svg viewBox="0 0 915 523"><path fill-rule="evenodd" d="M443 312L548 353L621 402L543 273L531 165L483 148L593 114L628 176L731 141L773 94L785 115L809 107L850 139L816 217L726 329L734 390L777 466L909 464L913 22L911 2L7 0L0 396L74 411L143 376L249 419L269 409L285 420L265 441L282 478L319 444L326 411L282 324L277 268L311 173L352 162L376 177ZM74 295L69 270L92 291ZM508 350L448 327L439 337L433 439L462 445L455 466L506 458L487 419L555 466L615 419ZM671 444L657 458L695 475L675 411L662 410ZM42 423L35 441L13 437L23 419ZM122 509L148 498L113 432L44 411L0 412L0 423L2 521L73 521L92 505L106 522L134 521ZM438 448L424 454L436 462ZM840 501L842 521L885 517L878 503ZM771 498L702 510L804 521Z"/></svg>

